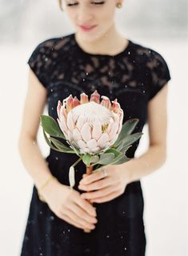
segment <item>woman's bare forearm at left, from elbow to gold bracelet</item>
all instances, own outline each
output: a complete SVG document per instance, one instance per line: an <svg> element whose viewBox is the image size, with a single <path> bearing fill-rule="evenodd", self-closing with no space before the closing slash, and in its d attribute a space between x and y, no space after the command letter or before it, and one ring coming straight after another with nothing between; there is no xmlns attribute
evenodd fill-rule
<svg viewBox="0 0 188 256"><path fill-rule="evenodd" d="M18 142L18 150L23 165L34 179L36 187L40 188L51 174L49 167L42 156L41 150L38 147L37 141L28 137L22 138Z"/></svg>

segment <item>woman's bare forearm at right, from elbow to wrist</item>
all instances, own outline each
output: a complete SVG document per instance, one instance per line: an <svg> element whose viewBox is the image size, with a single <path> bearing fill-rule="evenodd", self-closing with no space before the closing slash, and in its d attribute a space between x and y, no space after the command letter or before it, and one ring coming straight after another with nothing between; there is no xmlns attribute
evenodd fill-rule
<svg viewBox="0 0 188 256"><path fill-rule="evenodd" d="M130 183L153 173L164 162L166 162L165 146L153 145L138 158L133 158L122 164L122 170L125 170L126 179Z"/></svg>

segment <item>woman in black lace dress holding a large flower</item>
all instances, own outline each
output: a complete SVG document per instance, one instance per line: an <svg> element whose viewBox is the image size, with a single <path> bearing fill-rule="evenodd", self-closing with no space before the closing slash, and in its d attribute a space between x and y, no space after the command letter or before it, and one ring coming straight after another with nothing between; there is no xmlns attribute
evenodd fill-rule
<svg viewBox="0 0 188 256"><path fill-rule="evenodd" d="M114 12L122 7L121 0L63 3L76 32L39 43L28 61L19 151L34 179L34 190L21 254L142 256L146 235L140 179L166 161L170 72L160 54L118 32ZM110 100L118 98L123 122L139 119L134 132L142 131L148 122L150 146L134 158L138 140L126 152L132 158L129 162L106 166L106 172L90 176L82 176L86 169L80 162L70 190L69 167L76 156L50 149L42 158L36 140L39 116L47 102L50 116L56 119L58 100L94 90Z"/></svg>

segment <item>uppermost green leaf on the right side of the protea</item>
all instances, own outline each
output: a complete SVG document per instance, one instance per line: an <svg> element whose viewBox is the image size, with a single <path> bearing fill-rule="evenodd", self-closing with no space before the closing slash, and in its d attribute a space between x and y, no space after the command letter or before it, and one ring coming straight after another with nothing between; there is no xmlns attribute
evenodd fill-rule
<svg viewBox="0 0 188 256"><path fill-rule="evenodd" d="M122 125L122 130L118 135L116 142L114 142L113 146L114 147L117 146L118 142L122 141L123 138L126 138L126 136L130 135L133 132L136 125L138 124L138 122L139 122L138 118L131 118L126 122L124 122L124 124Z"/></svg>

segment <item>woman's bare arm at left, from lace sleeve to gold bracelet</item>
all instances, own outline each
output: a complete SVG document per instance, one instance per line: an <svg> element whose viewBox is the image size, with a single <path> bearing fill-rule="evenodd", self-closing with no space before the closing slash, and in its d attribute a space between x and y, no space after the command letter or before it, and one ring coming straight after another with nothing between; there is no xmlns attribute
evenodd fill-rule
<svg viewBox="0 0 188 256"><path fill-rule="evenodd" d="M50 177L50 170L38 147L37 133L40 122L40 114L46 104L46 88L38 81L30 69L28 78L28 90L22 114L22 128L18 138L18 150L22 162L34 179L37 188L40 188L46 179ZM50 180L50 183L56 180Z"/></svg>

